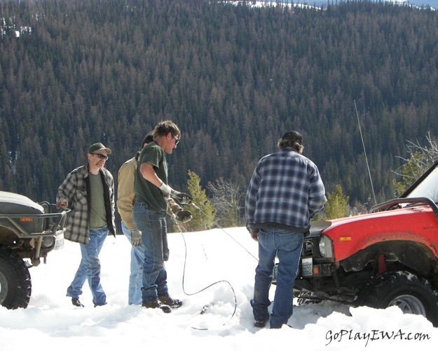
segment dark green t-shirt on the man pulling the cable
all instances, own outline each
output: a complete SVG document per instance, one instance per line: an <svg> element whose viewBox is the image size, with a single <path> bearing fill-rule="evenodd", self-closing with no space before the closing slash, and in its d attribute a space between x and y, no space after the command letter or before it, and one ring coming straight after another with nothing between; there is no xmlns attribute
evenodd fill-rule
<svg viewBox="0 0 438 351"><path fill-rule="evenodd" d="M140 173L141 164L149 163L160 180L167 184L167 161L163 149L155 142L143 147L138 159L137 171L135 173L134 192L145 204L148 204L154 211L167 211L167 201L161 194L158 187L149 180L143 178Z"/></svg>

